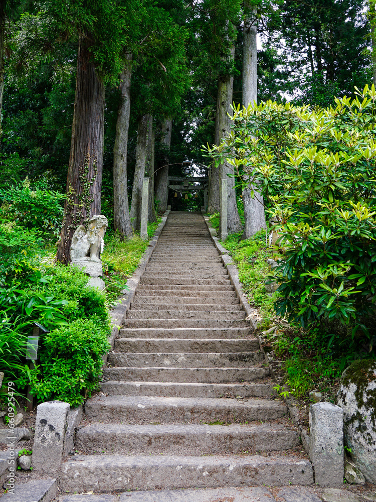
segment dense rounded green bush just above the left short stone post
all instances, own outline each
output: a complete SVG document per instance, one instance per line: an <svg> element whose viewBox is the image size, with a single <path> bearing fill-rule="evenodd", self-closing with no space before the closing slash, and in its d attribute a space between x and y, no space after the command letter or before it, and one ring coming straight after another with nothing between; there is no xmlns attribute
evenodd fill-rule
<svg viewBox="0 0 376 502"><path fill-rule="evenodd" d="M17 382L31 385L39 401L60 400L79 406L96 390L103 355L109 350L107 330L101 319L77 319L68 327L55 329L44 338L41 363L25 369Z"/></svg>

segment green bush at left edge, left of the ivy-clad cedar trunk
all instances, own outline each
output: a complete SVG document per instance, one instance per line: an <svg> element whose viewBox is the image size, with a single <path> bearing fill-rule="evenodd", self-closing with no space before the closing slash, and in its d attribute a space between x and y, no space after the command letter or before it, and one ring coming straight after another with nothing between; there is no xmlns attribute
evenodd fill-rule
<svg viewBox="0 0 376 502"><path fill-rule="evenodd" d="M36 187L30 181L0 189L3 217L29 228L51 231L59 235L63 220L65 196L53 190Z"/></svg>

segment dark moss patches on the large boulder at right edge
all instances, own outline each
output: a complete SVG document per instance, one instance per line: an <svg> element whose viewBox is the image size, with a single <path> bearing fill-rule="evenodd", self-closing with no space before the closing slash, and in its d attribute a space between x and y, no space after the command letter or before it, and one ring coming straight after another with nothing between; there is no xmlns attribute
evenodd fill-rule
<svg viewBox="0 0 376 502"><path fill-rule="evenodd" d="M361 408L365 408L367 417L371 419L372 429L376 432L376 389L367 389L372 381L376 381L376 361L374 359L359 359L353 362L344 372L342 376L342 385L349 388L350 384L356 386L355 399L358 406L358 411L351 417L348 423L358 422L356 430L362 432L370 439L370 434L367 434L365 417L359 412ZM340 398L344 400L345 395L340 393Z"/></svg>

